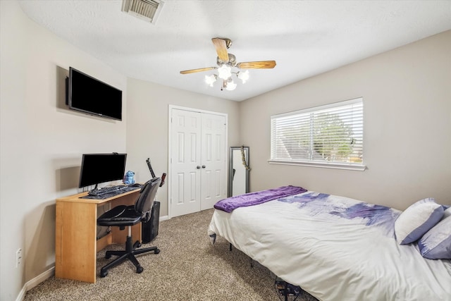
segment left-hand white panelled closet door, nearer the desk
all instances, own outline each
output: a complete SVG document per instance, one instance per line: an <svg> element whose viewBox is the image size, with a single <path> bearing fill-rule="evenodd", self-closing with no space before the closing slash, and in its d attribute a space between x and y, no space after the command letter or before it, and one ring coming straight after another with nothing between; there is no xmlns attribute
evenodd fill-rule
<svg viewBox="0 0 451 301"><path fill-rule="evenodd" d="M201 127L200 113L172 110L171 216L200 210Z"/></svg>

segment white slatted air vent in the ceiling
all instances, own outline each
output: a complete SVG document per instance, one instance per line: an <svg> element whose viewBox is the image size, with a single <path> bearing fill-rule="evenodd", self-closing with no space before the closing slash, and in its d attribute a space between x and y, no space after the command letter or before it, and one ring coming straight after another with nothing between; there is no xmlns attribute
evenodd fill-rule
<svg viewBox="0 0 451 301"><path fill-rule="evenodd" d="M155 24L163 1L161 0L123 0L122 11L130 15Z"/></svg>

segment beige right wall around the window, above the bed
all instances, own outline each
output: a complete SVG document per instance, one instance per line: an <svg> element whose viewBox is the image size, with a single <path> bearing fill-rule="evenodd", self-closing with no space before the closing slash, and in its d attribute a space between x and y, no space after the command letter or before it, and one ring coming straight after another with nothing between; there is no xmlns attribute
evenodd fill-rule
<svg viewBox="0 0 451 301"><path fill-rule="evenodd" d="M251 190L300 185L397 209L424 197L451 204L450 54L447 31L241 102ZM272 114L356 97L368 170L268 164Z"/></svg>

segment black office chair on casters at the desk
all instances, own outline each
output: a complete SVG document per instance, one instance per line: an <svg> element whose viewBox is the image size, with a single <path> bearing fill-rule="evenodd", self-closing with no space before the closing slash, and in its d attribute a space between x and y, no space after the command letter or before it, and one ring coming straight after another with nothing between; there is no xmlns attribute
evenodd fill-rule
<svg viewBox="0 0 451 301"><path fill-rule="evenodd" d="M118 226L121 230L125 229L125 226L128 226L125 250L106 251L106 259L111 258L111 255L116 255L118 258L101 268L101 277L108 275L108 269L116 266L116 264L120 264L125 259L129 259L130 262L135 264L136 272L141 273L144 269L140 265L140 262L137 261L135 255L146 252L154 252L155 254L158 254L160 252L157 247L146 247L135 250L137 247L141 247L141 243L139 241L136 241L135 244L132 243L132 226L142 221L149 221L152 206L154 205L156 190L158 190L160 183L161 178L153 178L152 180L147 181L142 186L140 196L137 198L134 206L121 205L114 207L113 209L106 211L97 219L97 225L99 226Z"/></svg>

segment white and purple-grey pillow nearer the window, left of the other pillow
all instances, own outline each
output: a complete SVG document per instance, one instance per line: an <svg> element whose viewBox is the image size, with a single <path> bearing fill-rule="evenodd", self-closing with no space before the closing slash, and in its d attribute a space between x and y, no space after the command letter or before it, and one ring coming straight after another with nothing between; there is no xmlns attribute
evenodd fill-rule
<svg viewBox="0 0 451 301"><path fill-rule="evenodd" d="M400 245L419 240L443 216L443 207L429 197L405 209L395 221L396 240Z"/></svg>

